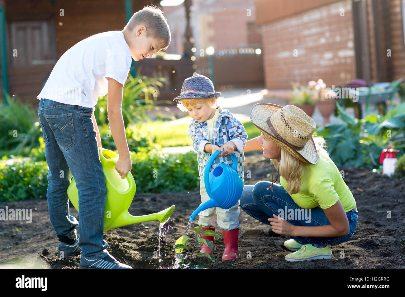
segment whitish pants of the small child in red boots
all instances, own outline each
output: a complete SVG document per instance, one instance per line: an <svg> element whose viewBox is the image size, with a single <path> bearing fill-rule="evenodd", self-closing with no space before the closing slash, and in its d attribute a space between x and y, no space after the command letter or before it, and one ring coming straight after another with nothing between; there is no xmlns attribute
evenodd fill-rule
<svg viewBox="0 0 405 297"><path fill-rule="evenodd" d="M201 203L209 200L207 191L205 190L204 179L200 181ZM198 225L203 227L215 228L219 226L224 230L233 230L239 228L239 200L230 209L222 209L220 207L211 207L205 211L198 213Z"/></svg>

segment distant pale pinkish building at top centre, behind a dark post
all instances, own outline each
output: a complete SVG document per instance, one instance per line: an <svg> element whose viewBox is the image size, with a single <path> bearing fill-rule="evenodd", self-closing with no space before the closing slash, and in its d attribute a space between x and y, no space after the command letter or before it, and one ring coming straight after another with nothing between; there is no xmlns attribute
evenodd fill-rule
<svg viewBox="0 0 405 297"><path fill-rule="evenodd" d="M166 52L181 54L186 31L184 3L164 6L162 10L172 32L172 43ZM215 51L261 46L253 0L192 0L190 11L196 53L208 46Z"/></svg>

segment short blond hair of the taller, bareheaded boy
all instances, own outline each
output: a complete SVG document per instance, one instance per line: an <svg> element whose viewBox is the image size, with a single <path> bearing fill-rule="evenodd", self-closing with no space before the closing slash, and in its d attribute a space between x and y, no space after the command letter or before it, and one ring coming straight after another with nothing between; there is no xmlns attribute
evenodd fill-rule
<svg viewBox="0 0 405 297"><path fill-rule="evenodd" d="M145 25L146 36L162 42L161 51L164 51L169 46L171 39L170 28L158 6L145 6L134 13L124 29L132 31L137 25Z"/></svg>

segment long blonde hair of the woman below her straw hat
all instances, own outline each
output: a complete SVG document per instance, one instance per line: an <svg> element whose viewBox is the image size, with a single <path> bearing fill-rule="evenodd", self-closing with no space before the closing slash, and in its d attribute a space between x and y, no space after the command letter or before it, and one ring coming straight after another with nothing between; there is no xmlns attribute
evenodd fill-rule
<svg viewBox="0 0 405 297"><path fill-rule="evenodd" d="M266 137L270 138L267 135ZM328 152L326 151L327 147L325 145L325 142L314 142L319 158L327 159L325 158L325 156L328 154ZM291 156L290 154L285 152L282 148L280 149L280 154L280 161L278 161L277 159L272 159L272 162L275 169L277 169L279 174L287 181L286 191L290 195L296 194L301 190L301 177L303 175L304 167L312 166L312 164L308 164L307 162L298 160L294 156Z"/></svg>

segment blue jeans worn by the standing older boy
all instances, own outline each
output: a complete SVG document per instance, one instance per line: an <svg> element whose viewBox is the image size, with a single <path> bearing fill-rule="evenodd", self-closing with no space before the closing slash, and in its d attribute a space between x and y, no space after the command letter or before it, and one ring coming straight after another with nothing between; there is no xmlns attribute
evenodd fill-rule
<svg viewBox="0 0 405 297"><path fill-rule="evenodd" d="M40 99L38 106L49 167L47 200L51 225L61 242L75 239L79 225L81 256L101 259L108 255L108 244L102 238L107 187L92 114L92 108L49 99ZM69 169L79 190L80 224L69 214Z"/></svg>

